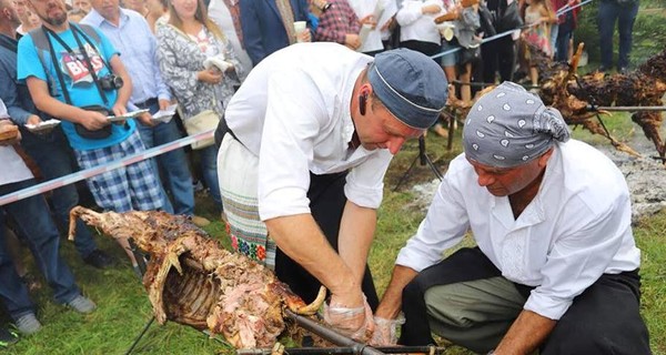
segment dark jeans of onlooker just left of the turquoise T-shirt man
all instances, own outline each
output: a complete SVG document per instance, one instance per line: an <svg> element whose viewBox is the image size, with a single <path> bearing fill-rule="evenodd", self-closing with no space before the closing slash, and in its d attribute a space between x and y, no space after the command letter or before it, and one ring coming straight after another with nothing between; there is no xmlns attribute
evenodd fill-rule
<svg viewBox="0 0 666 355"><path fill-rule="evenodd" d="M26 130L21 130L21 145L34 160L44 180L58 179L79 170L67 138L64 138L60 128L56 128L50 134L43 136L38 136ZM69 184L53 190L51 201L56 221L61 227L68 230L69 212L79 204L77 186ZM92 234L81 220L77 221L74 246L81 257L87 257L97 250Z"/></svg>

